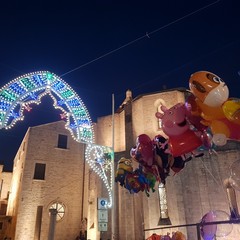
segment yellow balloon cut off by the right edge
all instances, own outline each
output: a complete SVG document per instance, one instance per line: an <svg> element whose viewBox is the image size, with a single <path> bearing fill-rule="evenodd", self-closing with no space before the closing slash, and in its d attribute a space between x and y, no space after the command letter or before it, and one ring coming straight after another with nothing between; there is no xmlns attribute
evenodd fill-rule
<svg viewBox="0 0 240 240"><path fill-rule="evenodd" d="M228 99L228 101L223 104L222 109L225 117L229 121L240 124L240 99Z"/></svg>

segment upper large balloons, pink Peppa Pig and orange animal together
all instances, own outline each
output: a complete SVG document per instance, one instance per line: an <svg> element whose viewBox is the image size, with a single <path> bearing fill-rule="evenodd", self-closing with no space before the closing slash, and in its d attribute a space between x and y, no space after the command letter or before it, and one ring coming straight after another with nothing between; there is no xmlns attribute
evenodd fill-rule
<svg viewBox="0 0 240 240"><path fill-rule="evenodd" d="M171 154L214 150L227 140L240 140L240 99L228 98L229 90L217 75L199 71L189 80L190 96L171 108L161 106L155 115L168 136Z"/></svg>

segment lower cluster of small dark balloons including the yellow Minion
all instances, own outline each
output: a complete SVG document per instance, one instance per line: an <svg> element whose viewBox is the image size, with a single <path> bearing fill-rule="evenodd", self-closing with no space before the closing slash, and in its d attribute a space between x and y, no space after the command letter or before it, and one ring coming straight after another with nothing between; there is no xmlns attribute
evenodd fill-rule
<svg viewBox="0 0 240 240"><path fill-rule="evenodd" d="M174 173L181 171L185 163L192 157L174 157L168 152L168 140L157 135L153 140L147 134L141 134L136 139L136 146L130 151L131 159L122 157L118 161L115 182L129 190L130 193L145 191L155 192L156 183L166 183L170 169ZM133 169L133 162L139 166Z"/></svg>

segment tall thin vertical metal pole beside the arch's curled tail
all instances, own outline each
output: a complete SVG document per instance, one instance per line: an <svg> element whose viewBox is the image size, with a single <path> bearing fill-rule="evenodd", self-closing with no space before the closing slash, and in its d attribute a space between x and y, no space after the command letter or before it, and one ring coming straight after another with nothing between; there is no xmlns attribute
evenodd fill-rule
<svg viewBox="0 0 240 240"><path fill-rule="evenodd" d="M115 166L114 166L114 94L112 94L112 149L113 149L113 161L112 161L112 236L111 239L115 239Z"/></svg>

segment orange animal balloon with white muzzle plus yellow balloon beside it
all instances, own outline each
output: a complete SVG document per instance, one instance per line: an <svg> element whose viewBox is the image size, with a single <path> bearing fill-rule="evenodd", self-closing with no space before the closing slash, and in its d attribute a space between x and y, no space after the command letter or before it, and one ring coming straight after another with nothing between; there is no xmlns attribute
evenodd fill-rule
<svg viewBox="0 0 240 240"><path fill-rule="evenodd" d="M189 88L191 115L210 130L213 144L240 140L240 99L229 98L226 83L214 73L199 71L191 75Z"/></svg>

